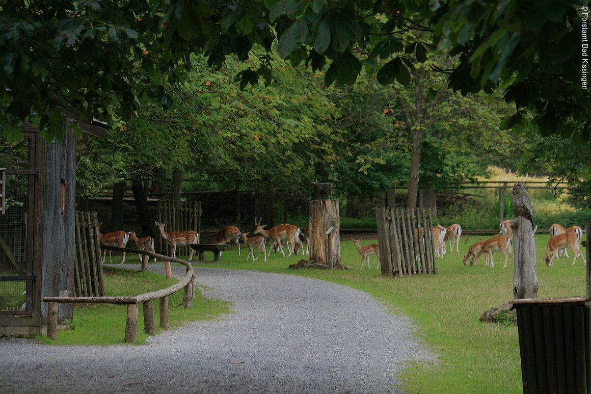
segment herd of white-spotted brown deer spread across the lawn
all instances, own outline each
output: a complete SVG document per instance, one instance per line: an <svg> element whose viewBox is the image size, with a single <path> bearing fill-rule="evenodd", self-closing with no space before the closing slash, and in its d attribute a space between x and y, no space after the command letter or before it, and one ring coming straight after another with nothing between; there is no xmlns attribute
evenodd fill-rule
<svg viewBox="0 0 591 394"><path fill-rule="evenodd" d="M507 266L509 255L513 257L511 247L513 231L511 230L511 222L512 220L505 220L499 224L499 235L489 238L488 240L478 241L472 244L469 247L466 256L463 258L463 264L467 265L468 261L470 261L470 266L473 266L476 264L480 256L484 255L485 266L494 267L495 263L493 261L493 254L500 252L505 257L503 264L503 268L505 268ZM171 257L176 257L177 246L182 247L189 246L190 244L199 244L199 234L197 234L195 231L167 232L165 230L167 222L155 222L155 224L160 231L161 237L171 247ZM213 243L235 243L236 247L238 248L238 256L241 256L239 240L242 240L242 242L248 248L246 261L248 261L250 257L252 257L252 261L256 261L259 259L261 254L263 255L264 260L267 261L267 258L271 255L272 251L277 251L285 257L285 251L283 248L284 244L287 244L287 257L292 256L292 254L296 254L297 256L300 250L302 255L309 253L309 227L300 228L296 225L287 223L278 224L272 228L269 228L268 230L266 227L267 225L261 225L261 219L259 218L255 218L254 230L248 232L243 232L239 230L238 227L229 225L216 232L213 237ZM534 233L536 230L537 227L534 229ZM421 229L421 231L424 231L424 229ZM251 234L251 232L255 236L249 238L248 235ZM583 264L586 264L583 254L580 251L582 236L583 230L579 226L564 228L560 224L553 224L550 227L550 240L548 240L544 257L544 261L547 266L552 266L554 260L556 260L558 257L569 257L569 248L574 254L573 262L571 264L574 265L576 263L577 257L579 256L583 260ZM457 223L449 225L448 227L444 227L440 224L433 226L431 229L431 240L433 241L433 250L436 257L443 258L446 255L447 241L449 241L450 251L453 252L455 249L456 253L460 253L460 237L462 237L462 227ZM125 248L129 240L133 241L139 250L151 251L154 253L154 238L152 237L147 236L138 238L134 231L115 231L108 232L106 234L100 234L100 243L105 246ZM271 243L269 244L268 252L267 242ZM306 249L303 247L304 242L306 243ZM353 240L357 251L362 257L361 269L363 269L365 263L367 263L368 268L371 268L369 263L369 256L371 255L376 256L377 263L375 264L375 267L378 269L380 265L379 244L372 243L361 246L360 242L361 240ZM254 256L255 249L258 251L256 257ZM191 248L189 260L193 258L193 253L194 250ZM122 256L121 263L125 263L125 252L123 252ZM103 263L105 263L105 257L106 250L103 250ZM142 254L139 255L139 259L142 259ZM156 261L155 258L154 261ZM111 250L109 250L109 263L112 263Z"/></svg>

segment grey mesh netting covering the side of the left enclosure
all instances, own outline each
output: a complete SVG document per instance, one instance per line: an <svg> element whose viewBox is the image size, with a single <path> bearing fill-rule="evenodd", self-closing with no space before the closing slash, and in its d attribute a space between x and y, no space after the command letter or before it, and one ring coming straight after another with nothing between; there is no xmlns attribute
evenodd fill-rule
<svg viewBox="0 0 591 394"><path fill-rule="evenodd" d="M69 122L67 130L62 143L47 143L46 148L42 297L74 296L76 138ZM59 321L72 317L73 305L61 302Z"/></svg>

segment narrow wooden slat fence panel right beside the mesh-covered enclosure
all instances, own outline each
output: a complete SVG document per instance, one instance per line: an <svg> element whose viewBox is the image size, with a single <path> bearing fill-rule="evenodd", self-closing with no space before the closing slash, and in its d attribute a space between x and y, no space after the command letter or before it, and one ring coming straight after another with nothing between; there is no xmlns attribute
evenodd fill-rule
<svg viewBox="0 0 591 394"><path fill-rule="evenodd" d="M76 212L74 293L77 297L105 295L96 212Z"/></svg>

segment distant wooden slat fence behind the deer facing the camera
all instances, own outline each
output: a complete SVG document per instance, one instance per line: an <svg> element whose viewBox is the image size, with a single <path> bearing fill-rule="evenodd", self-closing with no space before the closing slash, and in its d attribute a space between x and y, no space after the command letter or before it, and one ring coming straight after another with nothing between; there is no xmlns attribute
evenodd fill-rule
<svg viewBox="0 0 591 394"><path fill-rule="evenodd" d="M181 201L180 208L175 209L169 200L158 201L158 222L167 222L166 232L192 230L201 232L201 201ZM161 241L160 234L155 238ZM170 256L172 248L167 242L162 242L161 253ZM177 256L188 256L191 253L187 246L177 247Z"/></svg>

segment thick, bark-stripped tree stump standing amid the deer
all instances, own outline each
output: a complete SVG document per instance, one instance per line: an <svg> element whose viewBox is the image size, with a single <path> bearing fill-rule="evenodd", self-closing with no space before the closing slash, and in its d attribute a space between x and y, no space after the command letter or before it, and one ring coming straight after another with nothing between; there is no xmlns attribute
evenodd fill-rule
<svg viewBox="0 0 591 394"><path fill-rule="evenodd" d="M340 264L338 200L310 201L310 261L335 269ZM331 230L332 228L332 230ZM330 230L330 232L329 232ZM329 232L329 234L326 234Z"/></svg>

